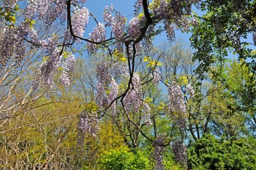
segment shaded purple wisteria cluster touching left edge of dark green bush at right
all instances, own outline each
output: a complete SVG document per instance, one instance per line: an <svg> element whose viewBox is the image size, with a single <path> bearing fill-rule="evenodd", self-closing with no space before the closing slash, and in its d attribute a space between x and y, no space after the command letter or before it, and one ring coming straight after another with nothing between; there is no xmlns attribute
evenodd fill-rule
<svg viewBox="0 0 256 170"><path fill-rule="evenodd" d="M175 157L175 161L180 165L186 166L187 164L187 148L182 141L175 140L172 144L172 152Z"/></svg>

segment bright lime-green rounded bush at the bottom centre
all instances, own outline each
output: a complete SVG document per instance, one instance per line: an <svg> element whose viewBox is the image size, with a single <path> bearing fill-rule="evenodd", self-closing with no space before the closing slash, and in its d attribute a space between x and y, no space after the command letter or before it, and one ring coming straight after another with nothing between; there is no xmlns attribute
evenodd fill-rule
<svg viewBox="0 0 256 170"><path fill-rule="evenodd" d="M108 151L102 155L102 159L99 164L99 169L108 170L149 169L148 159L144 157L141 152L134 154L128 150Z"/></svg>

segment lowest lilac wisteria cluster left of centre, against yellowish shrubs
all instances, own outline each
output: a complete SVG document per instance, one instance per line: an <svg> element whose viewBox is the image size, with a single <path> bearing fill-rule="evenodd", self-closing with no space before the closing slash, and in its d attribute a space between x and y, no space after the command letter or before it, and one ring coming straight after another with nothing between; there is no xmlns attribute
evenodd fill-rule
<svg viewBox="0 0 256 170"><path fill-rule="evenodd" d="M79 116L79 122L77 124L77 137L79 144L84 143L86 135L96 137L99 132L99 121L97 118L97 112L83 111Z"/></svg>

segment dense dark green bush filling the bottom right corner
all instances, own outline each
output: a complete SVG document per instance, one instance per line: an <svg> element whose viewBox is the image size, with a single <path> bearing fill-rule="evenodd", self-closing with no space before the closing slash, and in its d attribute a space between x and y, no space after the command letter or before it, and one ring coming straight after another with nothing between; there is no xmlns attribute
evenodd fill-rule
<svg viewBox="0 0 256 170"><path fill-rule="evenodd" d="M256 169L256 139L204 134L189 148L189 169Z"/></svg>

